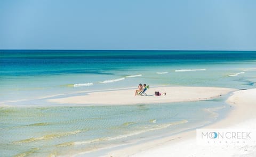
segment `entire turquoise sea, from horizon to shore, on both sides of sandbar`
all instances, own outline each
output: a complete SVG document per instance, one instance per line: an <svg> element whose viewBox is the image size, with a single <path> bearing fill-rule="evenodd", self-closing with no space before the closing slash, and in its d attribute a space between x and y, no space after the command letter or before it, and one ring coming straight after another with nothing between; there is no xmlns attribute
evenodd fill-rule
<svg viewBox="0 0 256 157"><path fill-rule="evenodd" d="M0 54L0 156L99 150L207 125L230 110L225 98L57 106L46 97L137 88L139 83L249 89L256 82L256 52L0 50Z"/></svg>

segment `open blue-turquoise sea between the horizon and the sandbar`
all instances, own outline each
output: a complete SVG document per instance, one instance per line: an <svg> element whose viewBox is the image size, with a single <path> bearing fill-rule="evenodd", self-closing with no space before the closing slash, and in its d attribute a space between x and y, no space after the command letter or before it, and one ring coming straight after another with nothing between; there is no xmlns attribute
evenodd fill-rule
<svg viewBox="0 0 256 157"><path fill-rule="evenodd" d="M136 87L139 82L231 88L251 88L255 82L256 52L0 50L0 53L1 102ZM204 71L175 72L196 69Z"/></svg>

